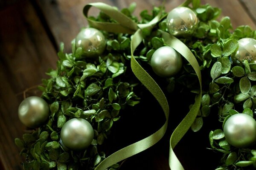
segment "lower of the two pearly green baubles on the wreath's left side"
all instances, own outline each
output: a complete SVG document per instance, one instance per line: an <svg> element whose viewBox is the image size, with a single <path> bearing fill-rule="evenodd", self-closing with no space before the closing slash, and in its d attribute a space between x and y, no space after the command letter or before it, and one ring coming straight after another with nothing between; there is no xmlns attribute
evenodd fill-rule
<svg viewBox="0 0 256 170"><path fill-rule="evenodd" d="M61 129L61 143L71 150L87 148L93 141L93 127L85 119L73 118Z"/></svg>

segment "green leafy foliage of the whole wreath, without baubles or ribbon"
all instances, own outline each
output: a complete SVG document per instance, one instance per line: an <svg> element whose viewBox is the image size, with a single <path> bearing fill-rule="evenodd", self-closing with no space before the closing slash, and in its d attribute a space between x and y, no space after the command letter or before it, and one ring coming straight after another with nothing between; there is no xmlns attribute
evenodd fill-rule
<svg viewBox="0 0 256 170"><path fill-rule="evenodd" d="M194 54L201 70L201 106L191 125L192 131L200 130L210 114L218 115L219 119L212 121L223 122L223 125L234 114L245 113L255 117L256 60L248 62L245 59L235 63L233 55L239 47L238 40L245 37L256 39L256 31L249 26L234 29L229 17L217 21L221 10L209 4L201 5L199 0L188 0L182 6L191 8L199 20L193 34L177 37ZM168 32L167 13L162 7L154 7L150 13L141 11L139 20L132 15L135 7L136 4L132 3L120 12L137 24L149 23L158 15L160 20L153 28L142 29L143 41L134 51L134 58L157 82L170 105L179 99L173 94L186 99L184 109L180 110L185 113L200 91L195 70L183 58L183 66L175 76L161 78L154 74L150 66L151 57L158 48L168 45L162 37L163 31ZM88 18L116 23L104 12ZM71 53L65 51L64 44L61 44L57 69L49 70L49 79L44 79L43 86L38 87L42 91L41 97L49 104L49 119L32 133L24 133L23 139L15 139L21 149L20 154L25 158L22 163L25 170L95 169L107 157L104 142L115 123L124 113L133 111L133 107L145 104L142 99L147 99L143 94L148 91L134 76L130 66L133 34L102 33L107 40L106 48L96 59L84 57L82 48L77 48L75 41L72 42ZM183 113L177 116L178 120L186 116ZM93 126L94 139L85 150L66 150L60 143L61 127L71 118L86 119ZM256 168L255 145L241 148L230 145L221 126L209 132L209 146L213 151L223 153L216 170ZM108 169L118 167L118 164L113 164Z"/></svg>

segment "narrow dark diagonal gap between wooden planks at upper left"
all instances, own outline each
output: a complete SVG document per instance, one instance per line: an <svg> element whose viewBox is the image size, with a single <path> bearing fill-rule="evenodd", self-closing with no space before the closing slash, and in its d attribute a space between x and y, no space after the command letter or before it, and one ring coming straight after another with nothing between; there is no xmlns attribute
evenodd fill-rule
<svg viewBox="0 0 256 170"><path fill-rule="evenodd" d="M35 8L35 12L38 15L38 18L40 19L44 30L46 31L47 36L49 37L50 42L52 42L52 46L55 49L56 53L59 51L57 42L52 34L52 31L49 27L49 24L47 23L46 18L44 17L44 13L42 11L42 9L40 8L40 6L38 5L38 3L36 2L36 0L29 0L29 2L32 4L32 6Z"/></svg>

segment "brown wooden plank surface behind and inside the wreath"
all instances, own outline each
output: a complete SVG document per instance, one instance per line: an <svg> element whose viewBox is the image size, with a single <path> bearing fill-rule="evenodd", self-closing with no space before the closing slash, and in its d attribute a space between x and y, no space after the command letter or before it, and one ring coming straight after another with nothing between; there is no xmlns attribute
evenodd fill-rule
<svg viewBox="0 0 256 170"><path fill-rule="evenodd" d="M71 51L70 41L81 27L87 25L82 8L90 2L96 1L0 0L0 169L22 169L19 150L14 144L14 139L21 138L26 130L17 116L18 105L23 99L22 92L39 85L42 78L47 78L45 75L47 69L56 67L56 53L60 42L65 43L66 51ZM153 6L159 6L161 3L160 0L102 0L101 2L117 6L119 9L136 2L137 9L134 14L137 16L141 10L151 10ZM166 0L166 11L170 11L182 2L182 0ZM249 25L256 29L256 0L202 0L202 3L222 8L221 16L229 16L234 28L239 25ZM90 10L91 15L96 15L98 12L96 9ZM215 164L211 165L210 159L208 162L202 162L195 156L198 153L194 151L189 153L191 155L185 153L184 150L193 148L187 140L196 139L190 138L190 135L191 132L186 134L176 148L178 157L183 164L186 164L186 169L214 169ZM200 135L201 133L196 134L196 136ZM168 170L169 137L170 134L167 134L163 139L167 142L160 142L125 161L120 170L129 169L133 165L136 165L137 169ZM212 151L207 153L211 154ZM215 156L214 153L212 154ZM208 164L212 168L204 167Z"/></svg>

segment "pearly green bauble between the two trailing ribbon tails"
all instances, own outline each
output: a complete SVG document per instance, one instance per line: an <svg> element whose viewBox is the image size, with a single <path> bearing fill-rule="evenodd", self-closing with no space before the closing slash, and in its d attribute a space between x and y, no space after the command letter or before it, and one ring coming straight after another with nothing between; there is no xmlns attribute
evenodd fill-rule
<svg viewBox="0 0 256 170"><path fill-rule="evenodd" d="M151 57L151 67L155 74L160 77L172 77L182 67L180 54L170 46L158 48Z"/></svg>

